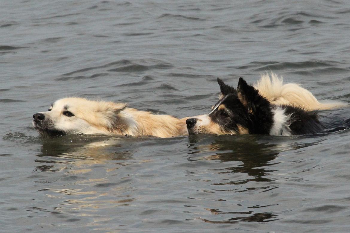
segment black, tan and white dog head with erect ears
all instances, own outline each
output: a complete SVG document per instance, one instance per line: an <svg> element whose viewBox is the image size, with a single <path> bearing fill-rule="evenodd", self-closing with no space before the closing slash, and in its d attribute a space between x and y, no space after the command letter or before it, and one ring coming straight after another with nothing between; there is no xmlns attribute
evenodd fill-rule
<svg viewBox="0 0 350 233"><path fill-rule="evenodd" d="M220 100L209 114L186 120L189 134L268 134L273 113L268 100L243 78L237 90L217 79Z"/></svg>

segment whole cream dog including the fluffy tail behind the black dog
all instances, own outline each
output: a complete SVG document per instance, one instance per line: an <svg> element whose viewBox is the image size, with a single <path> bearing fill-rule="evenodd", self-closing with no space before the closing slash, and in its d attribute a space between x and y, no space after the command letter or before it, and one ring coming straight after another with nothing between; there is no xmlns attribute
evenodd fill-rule
<svg viewBox="0 0 350 233"><path fill-rule="evenodd" d="M271 78L262 75L255 85L259 93L275 105L291 105L305 110L330 109L343 103L321 104L306 89L297 84L283 84L274 73ZM94 101L84 98L57 100L47 112L33 115L34 128L42 136L64 134L101 135L153 135L172 137L188 135L186 117L178 119L170 115L157 115L138 111L123 103Z"/></svg>

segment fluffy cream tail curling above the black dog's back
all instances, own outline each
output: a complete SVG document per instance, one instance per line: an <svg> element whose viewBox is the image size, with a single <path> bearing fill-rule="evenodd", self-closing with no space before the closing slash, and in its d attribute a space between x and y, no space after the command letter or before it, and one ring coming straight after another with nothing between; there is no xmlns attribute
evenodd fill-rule
<svg viewBox="0 0 350 233"><path fill-rule="evenodd" d="M347 103L335 101L320 103L314 95L298 84L283 84L283 78L271 72L271 77L266 73L254 87L272 104L291 105L302 107L307 111L329 110L348 106Z"/></svg>

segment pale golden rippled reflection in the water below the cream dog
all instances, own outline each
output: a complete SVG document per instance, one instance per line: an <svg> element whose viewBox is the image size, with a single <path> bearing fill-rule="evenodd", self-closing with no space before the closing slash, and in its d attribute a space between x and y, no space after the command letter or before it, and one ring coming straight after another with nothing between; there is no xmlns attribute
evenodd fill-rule
<svg viewBox="0 0 350 233"><path fill-rule="evenodd" d="M123 138L71 135L45 140L31 177L37 191L51 205L55 203L47 211L80 220L91 210L126 206L135 200L130 195L131 178L118 174L121 166L133 163L133 153L132 142ZM140 162L144 161L135 161ZM72 214L71 210L83 212ZM93 221L97 224L99 219Z"/></svg>

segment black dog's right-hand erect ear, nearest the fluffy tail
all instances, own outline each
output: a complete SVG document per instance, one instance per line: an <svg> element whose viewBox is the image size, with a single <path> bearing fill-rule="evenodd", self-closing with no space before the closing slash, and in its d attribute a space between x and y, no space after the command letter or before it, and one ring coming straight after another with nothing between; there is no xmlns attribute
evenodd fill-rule
<svg viewBox="0 0 350 233"><path fill-rule="evenodd" d="M263 106L269 106L267 99L262 97L253 86L247 84L242 77L238 80L237 91L238 99L251 114L255 114L257 108L260 109Z"/></svg>

